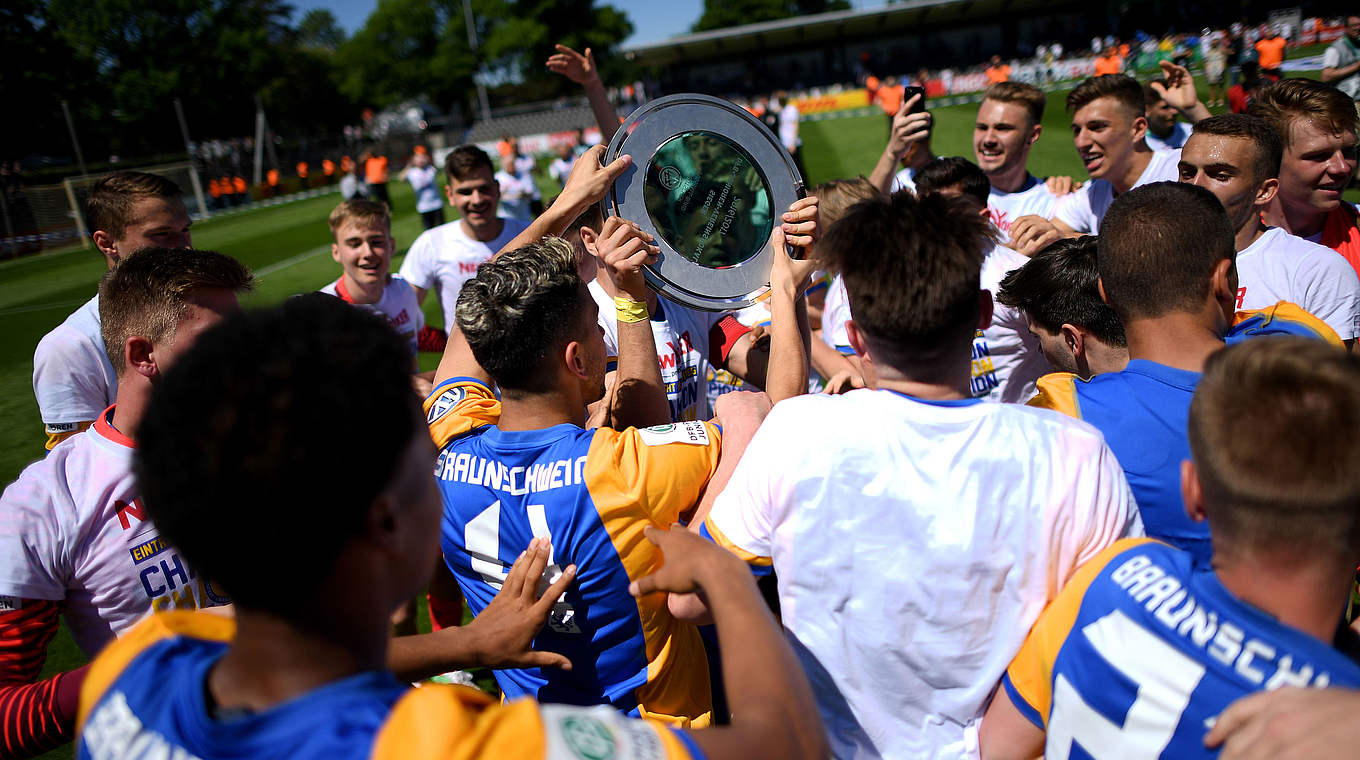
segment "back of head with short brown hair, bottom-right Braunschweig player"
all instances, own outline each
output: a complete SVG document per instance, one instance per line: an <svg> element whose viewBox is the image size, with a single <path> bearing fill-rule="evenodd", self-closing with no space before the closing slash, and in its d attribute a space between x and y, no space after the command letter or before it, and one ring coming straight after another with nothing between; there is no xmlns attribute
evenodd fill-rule
<svg viewBox="0 0 1360 760"><path fill-rule="evenodd" d="M1303 337L1259 337L1212 355L1187 432L1214 536L1247 552L1353 553L1356 428L1360 359Z"/></svg>

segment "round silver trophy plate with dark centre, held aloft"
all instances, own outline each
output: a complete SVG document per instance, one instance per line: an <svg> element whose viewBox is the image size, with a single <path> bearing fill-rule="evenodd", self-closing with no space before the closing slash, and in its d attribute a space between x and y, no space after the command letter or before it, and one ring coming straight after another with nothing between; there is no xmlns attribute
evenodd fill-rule
<svg viewBox="0 0 1360 760"><path fill-rule="evenodd" d="M706 311L755 303L770 284L770 231L802 197L802 175L770 129L721 98L668 95L632 111L605 163L623 154L632 165L605 209L661 247L647 284Z"/></svg>

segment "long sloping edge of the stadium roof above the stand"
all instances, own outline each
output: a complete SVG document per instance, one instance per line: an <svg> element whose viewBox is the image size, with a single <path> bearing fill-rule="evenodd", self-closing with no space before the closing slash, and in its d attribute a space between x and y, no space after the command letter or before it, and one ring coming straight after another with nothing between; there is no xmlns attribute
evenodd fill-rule
<svg viewBox="0 0 1360 760"><path fill-rule="evenodd" d="M681 34L658 42L624 48L623 53L628 60L641 65L664 67L680 61L726 58L759 50L787 49L796 45L884 37L894 31L922 26L1001 18L1002 14L1039 8L1053 10L1070 4L1070 1L1054 0L906 0L877 8L831 11Z"/></svg>

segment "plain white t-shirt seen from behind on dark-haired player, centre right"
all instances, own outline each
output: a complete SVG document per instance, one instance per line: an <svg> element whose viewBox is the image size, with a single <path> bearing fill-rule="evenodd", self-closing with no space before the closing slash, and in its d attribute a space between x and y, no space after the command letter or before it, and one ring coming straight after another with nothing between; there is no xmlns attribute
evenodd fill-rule
<svg viewBox="0 0 1360 760"><path fill-rule="evenodd" d="M1142 533L1091 426L868 389L778 404L704 528L772 563L835 757L967 756L1043 608Z"/></svg>

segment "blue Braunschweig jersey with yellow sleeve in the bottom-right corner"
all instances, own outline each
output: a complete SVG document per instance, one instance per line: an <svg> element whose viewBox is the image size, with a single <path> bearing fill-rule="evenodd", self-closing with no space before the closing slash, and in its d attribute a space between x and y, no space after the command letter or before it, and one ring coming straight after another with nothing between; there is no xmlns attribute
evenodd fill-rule
<svg viewBox="0 0 1360 760"><path fill-rule="evenodd" d="M1190 553L1125 540L1044 610L1002 685L1044 729L1046 757L1214 757L1204 737L1238 697L1356 688L1360 666L1238 600Z"/></svg>

